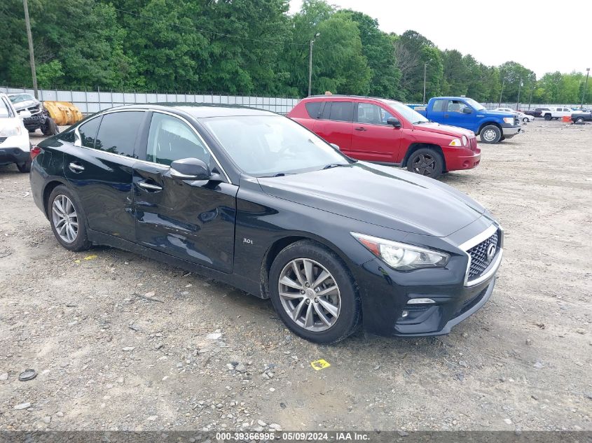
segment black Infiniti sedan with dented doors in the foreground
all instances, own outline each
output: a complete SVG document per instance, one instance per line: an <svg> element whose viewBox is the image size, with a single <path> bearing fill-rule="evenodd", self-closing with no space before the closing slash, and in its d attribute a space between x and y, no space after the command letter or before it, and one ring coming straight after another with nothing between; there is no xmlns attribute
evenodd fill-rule
<svg viewBox="0 0 592 443"><path fill-rule="evenodd" d="M298 123L212 105L111 108L33 148L57 241L103 244L270 298L317 343L362 324L441 335L486 303L503 232L431 178L357 162Z"/></svg>

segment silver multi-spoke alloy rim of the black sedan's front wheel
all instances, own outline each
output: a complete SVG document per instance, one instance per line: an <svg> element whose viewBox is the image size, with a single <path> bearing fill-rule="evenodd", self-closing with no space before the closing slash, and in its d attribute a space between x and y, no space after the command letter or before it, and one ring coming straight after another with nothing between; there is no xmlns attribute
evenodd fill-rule
<svg viewBox="0 0 592 443"><path fill-rule="evenodd" d="M286 314L305 330L328 330L339 318L341 296L337 282L315 260L291 260L280 273L278 290Z"/></svg>

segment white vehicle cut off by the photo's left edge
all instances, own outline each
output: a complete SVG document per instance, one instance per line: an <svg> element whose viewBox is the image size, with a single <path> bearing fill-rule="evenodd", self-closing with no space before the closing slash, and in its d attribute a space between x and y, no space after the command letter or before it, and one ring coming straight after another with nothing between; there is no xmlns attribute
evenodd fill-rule
<svg viewBox="0 0 592 443"><path fill-rule="evenodd" d="M0 94L0 166L16 163L18 170L31 170L29 132L22 122L31 116L29 111L18 114L6 94Z"/></svg>

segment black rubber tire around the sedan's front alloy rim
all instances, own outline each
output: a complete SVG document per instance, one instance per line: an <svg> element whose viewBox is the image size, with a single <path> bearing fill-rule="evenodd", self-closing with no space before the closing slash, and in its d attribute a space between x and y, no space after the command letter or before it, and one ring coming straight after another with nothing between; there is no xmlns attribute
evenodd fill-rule
<svg viewBox="0 0 592 443"><path fill-rule="evenodd" d="M280 274L292 260L305 258L324 267L338 286L340 311L329 329L316 332L298 325L287 313L280 299ZM318 344L337 343L352 335L362 319L362 307L355 289L354 279L339 256L315 241L301 240L286 246L271 265L269 272L271 302L277 315L294 334ZM304 301L304 299L303 299ZM312 304L312 303L309 303Z"/></svg>

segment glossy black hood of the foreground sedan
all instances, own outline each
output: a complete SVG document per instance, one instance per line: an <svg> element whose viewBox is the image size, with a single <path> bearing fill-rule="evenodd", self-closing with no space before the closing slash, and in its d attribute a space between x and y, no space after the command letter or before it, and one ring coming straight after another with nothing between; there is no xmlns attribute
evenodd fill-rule
<svg viewBox="0 0 592 443"><path fill-rule="evenodd" d="M366 162L258 181L268 195L413 234L447 237L485 212L432 178Z"/></svg>

